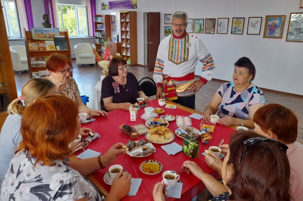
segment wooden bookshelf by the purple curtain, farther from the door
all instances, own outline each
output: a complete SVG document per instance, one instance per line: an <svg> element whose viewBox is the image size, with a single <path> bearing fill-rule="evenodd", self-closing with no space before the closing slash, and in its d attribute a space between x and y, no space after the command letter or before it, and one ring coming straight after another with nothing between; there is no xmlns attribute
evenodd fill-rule
<svg viewBox="0 0 303 201"><path fill-rule="evenodd" d="M101 18L101 20L100 20ZM98 20L99 19L99 20ZM101 26L103 29L98 29ZM105 50L105 41L107 41L108 37L112 36L112 28L111 28L111 16L110 15L94 15L94 29L95 29L95 42L96 42L96 50L98 54L101 56L102 51ZM101 44L97 43L101 40L104 41Z"/></svg>

